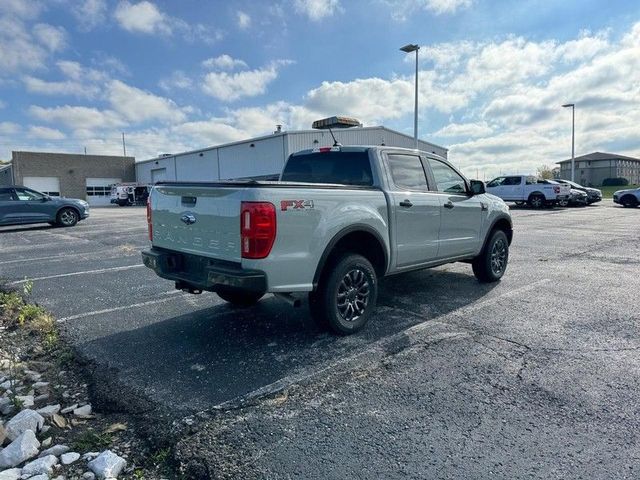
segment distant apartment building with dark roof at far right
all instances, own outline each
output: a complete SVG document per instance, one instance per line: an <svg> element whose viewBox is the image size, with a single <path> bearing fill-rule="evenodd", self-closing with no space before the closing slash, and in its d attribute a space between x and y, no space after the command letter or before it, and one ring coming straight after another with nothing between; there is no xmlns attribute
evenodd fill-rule
<svg viewBox="0 0 640 480"><path fill-rule="evenodd" d="M571 159L557 162L560 177L571 179ZM575 158L575 181L599 187L605 178L626 178L631 185L640 184L640 159L615 153L593 152Z"/></svg>

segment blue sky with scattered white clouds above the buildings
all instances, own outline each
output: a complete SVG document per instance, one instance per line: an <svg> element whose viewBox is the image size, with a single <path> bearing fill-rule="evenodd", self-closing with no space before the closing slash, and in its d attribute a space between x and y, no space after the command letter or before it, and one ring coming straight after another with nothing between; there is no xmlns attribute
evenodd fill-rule
<svg viewBox="0 0 640 480"><path fill-rule="evenodd" d="M0 0L0 159L161 152L309 128L413 132L469 175L640 157L640 2Z"/></svg>

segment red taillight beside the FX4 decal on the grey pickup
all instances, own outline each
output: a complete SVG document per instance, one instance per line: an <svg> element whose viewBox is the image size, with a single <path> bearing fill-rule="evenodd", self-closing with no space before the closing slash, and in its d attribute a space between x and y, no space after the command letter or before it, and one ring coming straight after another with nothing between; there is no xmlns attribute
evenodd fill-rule
<svg viewBox="0 0 640 480"><path fill-rule="evenodd" d="M240 242L242 258L265 258L276 240L276 207L269 202L242 202Z"/></svg>

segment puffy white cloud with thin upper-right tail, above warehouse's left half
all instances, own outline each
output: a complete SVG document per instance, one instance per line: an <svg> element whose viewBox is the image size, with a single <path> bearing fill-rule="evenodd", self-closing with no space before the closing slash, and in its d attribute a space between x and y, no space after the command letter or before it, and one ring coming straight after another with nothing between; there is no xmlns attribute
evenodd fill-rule
<svg viewBox="0 0 640 480"><path fill-rule="evenodd" d="M267 91L267 86L278 77L281 65L291 63L287 60L272 62L265 68L237 73L210 72L205 75L202 90L225 102L243 97L255 97Z"/></svg>

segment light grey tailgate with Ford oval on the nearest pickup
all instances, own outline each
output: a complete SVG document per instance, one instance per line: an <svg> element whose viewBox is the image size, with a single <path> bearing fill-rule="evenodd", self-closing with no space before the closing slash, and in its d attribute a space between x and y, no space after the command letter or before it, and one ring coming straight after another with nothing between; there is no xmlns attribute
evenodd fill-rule
<svg viewBox="0 0 640 480"><path fill-rule="evenodd" d="M154 187L153 246L240 262L243 190L241 185Z"/></svg>

